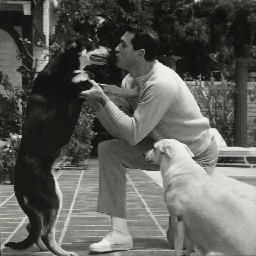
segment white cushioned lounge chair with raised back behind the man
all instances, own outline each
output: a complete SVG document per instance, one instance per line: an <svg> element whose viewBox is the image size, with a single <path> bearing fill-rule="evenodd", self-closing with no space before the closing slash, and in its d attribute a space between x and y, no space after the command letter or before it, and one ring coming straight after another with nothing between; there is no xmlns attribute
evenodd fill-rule
<svg viewBox="0 0 256 256"><path fill-rule="evenodd" d="M249 165L251 168L256 166L256 164L249 163L246 159L246 157L256 157L256 147L228 147L216 128L210 128L210 132L216 139L219 149L219 159L221 157L243 157L246 165Z"/></svg>

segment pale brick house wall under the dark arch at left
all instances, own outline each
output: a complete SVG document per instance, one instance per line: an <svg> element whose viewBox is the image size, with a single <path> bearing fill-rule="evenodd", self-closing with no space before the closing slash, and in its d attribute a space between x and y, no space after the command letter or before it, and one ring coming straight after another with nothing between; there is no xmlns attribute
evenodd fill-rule
<svg viewBox="0 0 256 256"><path fill-rule="evenodd" d="M21 27L14 27L21 34ZM0 29L0 71L8 75L13 87L22 87L21 74L16 69L21 65L21 62L16 59L16 50L18 47L13 38L4 30ZM0 86L0 93L5 94L3 86Z"/></svg>

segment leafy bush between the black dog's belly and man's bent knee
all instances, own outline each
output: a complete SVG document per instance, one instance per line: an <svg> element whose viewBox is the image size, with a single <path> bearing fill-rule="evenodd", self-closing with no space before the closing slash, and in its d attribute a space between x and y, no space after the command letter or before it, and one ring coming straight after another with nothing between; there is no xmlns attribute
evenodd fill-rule
<svg viewBox="0 0 256 256"><path fill-rule="evenodd" d="M97 134L92 130L94 118L95 116L89 107L84 105L77 126L68 143L68 155L73 157L73 164L77 164L79 161L85 163L85 160L89 158L92 149L91 141Z"/></svg>

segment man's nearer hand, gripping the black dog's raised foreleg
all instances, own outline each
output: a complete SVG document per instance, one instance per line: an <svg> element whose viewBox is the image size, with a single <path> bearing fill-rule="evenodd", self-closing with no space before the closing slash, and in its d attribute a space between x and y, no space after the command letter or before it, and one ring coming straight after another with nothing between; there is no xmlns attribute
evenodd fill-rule
<svg viewBox="0 0 256 256"><path fill-rule="evenodd" d="M98 102L104 107L110 99L94 80L90 80L90 82L93 87L90 90L79 93L78 98L85 99L88 102L87 105L89 105L89 102Z"/></svg>

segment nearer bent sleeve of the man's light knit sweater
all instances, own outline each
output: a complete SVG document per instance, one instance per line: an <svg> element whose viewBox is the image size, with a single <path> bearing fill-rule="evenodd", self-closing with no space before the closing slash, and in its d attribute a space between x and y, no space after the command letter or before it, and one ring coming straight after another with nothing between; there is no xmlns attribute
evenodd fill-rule
<svg viewBox="0 0 256 256"><path fill-rule="evenodd" d="M151 83L146 85L134 112L129 117L109 101L104 110L119 133L121 139L130 145L136 145L144 139L160 122L167 109L171 106L177 93L177 86L170 82Z"/></svg>

